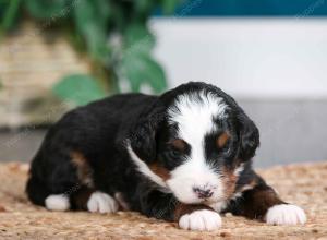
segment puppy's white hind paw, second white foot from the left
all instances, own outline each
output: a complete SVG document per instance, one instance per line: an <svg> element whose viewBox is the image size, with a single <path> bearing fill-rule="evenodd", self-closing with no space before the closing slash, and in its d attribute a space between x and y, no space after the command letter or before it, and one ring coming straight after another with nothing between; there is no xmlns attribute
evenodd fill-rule
<svg viewBox="0 0 327 240"><path fill-rule="evenodd" d="M118 203L107 193L94 192L87 201L87 209L92 213L99 212L114 213L118 211Z"/></svg>

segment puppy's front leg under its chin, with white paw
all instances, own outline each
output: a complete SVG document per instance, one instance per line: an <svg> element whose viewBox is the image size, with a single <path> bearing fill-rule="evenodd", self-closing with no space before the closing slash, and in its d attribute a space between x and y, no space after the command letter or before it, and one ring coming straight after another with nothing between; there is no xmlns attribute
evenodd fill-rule
<svg viewBox="0 0 327 240"><path fill-rule="evenodd" d="M148 217L177 221L183 229L215 230L221 226L221 217L211 207L183 204L172 194L159 191L153 191L147 197L143 197L141 206L142 213Z"/></svg>

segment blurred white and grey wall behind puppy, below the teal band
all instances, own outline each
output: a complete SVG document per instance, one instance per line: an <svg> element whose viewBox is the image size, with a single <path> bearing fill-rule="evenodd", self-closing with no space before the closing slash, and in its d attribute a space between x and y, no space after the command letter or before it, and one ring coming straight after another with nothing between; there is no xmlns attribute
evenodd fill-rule
<svg viewBox="0 0 327 240"><path fill-rule="evenodd" d="M261 130L255 164L327 159L326 19L155 19L170 86L213 83Z"/></svg>

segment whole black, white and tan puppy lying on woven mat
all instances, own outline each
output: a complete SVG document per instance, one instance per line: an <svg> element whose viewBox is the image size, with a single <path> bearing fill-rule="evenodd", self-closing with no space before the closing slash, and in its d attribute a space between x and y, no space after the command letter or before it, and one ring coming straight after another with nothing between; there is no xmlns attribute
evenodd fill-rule
<svg viewBox="0 0 327 240"><path fill-rule="evenodd" d="M219 213L271 225L304 224L252 169L254 122L216 86L189 83L161 96L125 94L66 113L31 168L31 201L51 211L137 211L214 230Z"/></svg>

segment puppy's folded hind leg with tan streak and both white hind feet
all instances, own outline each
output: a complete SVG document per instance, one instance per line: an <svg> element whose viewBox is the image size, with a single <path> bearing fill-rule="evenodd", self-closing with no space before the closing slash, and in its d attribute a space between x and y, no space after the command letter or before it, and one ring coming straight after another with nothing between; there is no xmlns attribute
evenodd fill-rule
<svg viewBox="0 0 327 240"><path fill-rule="evenodd" d="M78 152L39 155L32 164L28 197L50 211L116 212L116 200L94 190L93 168L88 163Z"/></svg>

